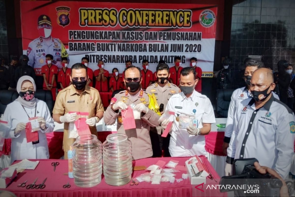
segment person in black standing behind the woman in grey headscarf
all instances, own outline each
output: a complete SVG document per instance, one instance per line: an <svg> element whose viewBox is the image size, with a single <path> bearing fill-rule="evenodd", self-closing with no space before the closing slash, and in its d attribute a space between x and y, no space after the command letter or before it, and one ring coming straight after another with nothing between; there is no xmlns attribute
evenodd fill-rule
<svg viewBox="0 0 295 197"><path fill-rule="evenodd" d="M26 55L21 55L19 58L20 66L15 69L14 79L15 82L19 80L21 76L28 75L31 76L34 80L36 79L36 74L34 69L28 65L29 58Z"/></svg>

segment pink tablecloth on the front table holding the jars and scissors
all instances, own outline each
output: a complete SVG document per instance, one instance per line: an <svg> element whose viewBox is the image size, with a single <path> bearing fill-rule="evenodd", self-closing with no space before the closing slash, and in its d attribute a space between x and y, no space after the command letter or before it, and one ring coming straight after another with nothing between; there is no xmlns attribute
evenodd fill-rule
<svg viewBox="0 0 295 197"><path fill-rule="evenodd" d="M145 158L136 160L134 163L136 166L145 165L148 167L149 165L156 164L159 159L165 161L166 163L171 159L174 159L179 161L179 165L184 165L184 162L188 159L188 157ZM217 180L217 182L219 182L219 176L212 168L208 160L205 157L201 157L201 159L206 163L213 177ZM51 162L56 161L60 162L60 165L58 165L55 172L53 172ZM102 178L101 183L95 187L80 188L74 184L74 179L70 179L67 175L63 175L68 172L67 165L67 160L40 159L40 163L35 170L25 170L24 172L19 173L17 178L6 188L6 190L13 192L20 197L186 197L192 196L192 190L194 188L194 185L190 184L189 179L183 180L180 183L175 181L173 184L169 182L161 182L160 185L152 185L151 183L141 182L136 186L127 184L116 187L107 185L104 178ZM145 170L135 171L132 174L132 177L135 178L144 172ZM182 173L186 172L177 172L176 178L181 178ZM28 180L27 184L30 184L35 180L35 178L38 178L36 182L37 184L42 183L42 181L47 178L47 181L45 182L46 187L42 190L27 190L25 188L17 187L18 184L23 183L26 180ZM64 189L63 185L68 182L71 184L71 188ZM207 178L204 189L207 184L216 185L218 183ZM205 190L204 194L206 194L206 196L225 196L224 193L219 193L214 190Z"/></svg>

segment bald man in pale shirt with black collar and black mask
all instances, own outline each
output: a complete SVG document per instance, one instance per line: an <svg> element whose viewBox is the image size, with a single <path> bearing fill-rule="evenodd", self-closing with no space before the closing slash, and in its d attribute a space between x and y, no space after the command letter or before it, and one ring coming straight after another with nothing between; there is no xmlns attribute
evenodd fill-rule
<svg viewBox="0 0 295 197"><path fill-rule="evenodd" d="M234 128L227 149L225 175L234 159L256 158L283 179L289 175L294 152L295 118L287 105L274 98L271 70L256 70L250 81L253 98L236 106Z"/></svg>

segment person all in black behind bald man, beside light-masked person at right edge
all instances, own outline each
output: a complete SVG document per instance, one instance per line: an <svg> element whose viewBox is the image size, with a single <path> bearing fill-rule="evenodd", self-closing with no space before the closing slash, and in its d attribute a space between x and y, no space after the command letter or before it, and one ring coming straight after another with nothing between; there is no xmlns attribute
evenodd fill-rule
<svg viewBox="0 0 295 197"><path fill-rule="evenodd" d="M278 85L280 101L287 105L288 88L291 82L290 75L286 72L289 63L286 60L278 61L278 72L274 75L274 81Z"/></svg>

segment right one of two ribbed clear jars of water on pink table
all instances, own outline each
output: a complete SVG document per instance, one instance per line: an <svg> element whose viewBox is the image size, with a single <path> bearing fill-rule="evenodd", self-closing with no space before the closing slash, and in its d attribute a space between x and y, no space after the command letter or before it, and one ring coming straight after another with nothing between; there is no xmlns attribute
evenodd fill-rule
<svg viewBox="0 0 295 197"><path fill-rule="evenodd" d="M131 181L131 142L125 134L110 134L102 144L104 179L107 184L119 186Z"/></svg>

